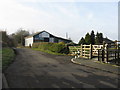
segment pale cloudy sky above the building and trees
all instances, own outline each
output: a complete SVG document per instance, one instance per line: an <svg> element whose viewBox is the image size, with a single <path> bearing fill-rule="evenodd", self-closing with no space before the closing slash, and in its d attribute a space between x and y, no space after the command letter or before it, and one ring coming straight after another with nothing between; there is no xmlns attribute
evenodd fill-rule
<svg viewBox="0 0 120 90"><path fill-rule="evenodd" d="M116 40L118 0L0 0L0 29L11 34L19 28L63 38L67 32L76 43L91 30Z"/></svg>

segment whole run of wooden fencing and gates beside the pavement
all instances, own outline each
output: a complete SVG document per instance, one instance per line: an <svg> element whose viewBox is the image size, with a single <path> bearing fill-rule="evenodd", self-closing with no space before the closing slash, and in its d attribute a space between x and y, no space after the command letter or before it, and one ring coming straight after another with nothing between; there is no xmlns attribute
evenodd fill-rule
<svg viewBox="0 0 120 90"><path fill-rule="evenodd" d="M70 54L76 57L85 57L91 59L93 56L98 56L99 61L119 59L120 44L103 44L103 45L80 45L69 46Z"/></svg>

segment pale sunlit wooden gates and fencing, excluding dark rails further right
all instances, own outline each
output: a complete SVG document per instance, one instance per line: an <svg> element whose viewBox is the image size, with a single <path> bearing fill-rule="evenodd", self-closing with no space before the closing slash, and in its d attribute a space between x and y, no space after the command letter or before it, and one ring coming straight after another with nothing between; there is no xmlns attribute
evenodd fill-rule
<svg viewBox="0 0 120 90"><path fill-rule="evenodd" d="M93 56L98 56L98 50L102 49L103 45L80 45L69 46L70 54L76 57L84 57L91 59Z"/></svg>

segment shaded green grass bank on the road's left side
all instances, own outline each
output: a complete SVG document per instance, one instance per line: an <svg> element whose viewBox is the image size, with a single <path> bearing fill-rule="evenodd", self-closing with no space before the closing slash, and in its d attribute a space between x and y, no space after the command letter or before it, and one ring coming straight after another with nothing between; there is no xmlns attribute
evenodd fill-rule
<svg viewBox="0 0 120 90"><path fill-rule="evenodd" d="M2 69L8 67L8 65L13 61L15 53L11 48L2 48Z"/></svg>

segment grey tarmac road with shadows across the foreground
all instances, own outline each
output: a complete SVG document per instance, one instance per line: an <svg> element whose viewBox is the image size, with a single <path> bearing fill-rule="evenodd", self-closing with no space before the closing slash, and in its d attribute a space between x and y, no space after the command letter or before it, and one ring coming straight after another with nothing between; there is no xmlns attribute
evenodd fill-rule
<svg viewBox="0 0 120 90"><path fill-rule="evenodd" d="M117 88L118 75L71 63L71 56L18 48L6 69L10 88Z"/></svg>

